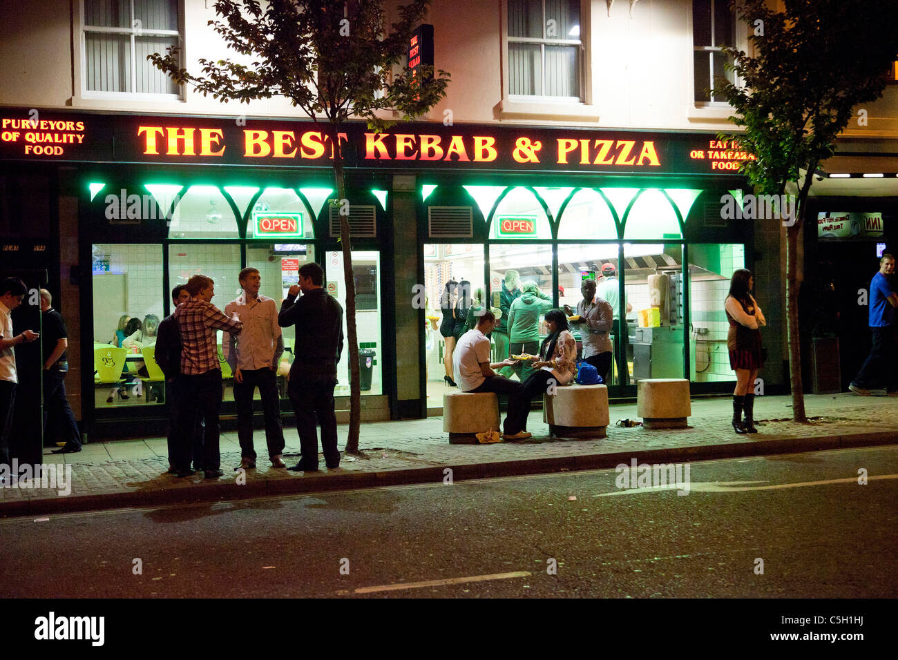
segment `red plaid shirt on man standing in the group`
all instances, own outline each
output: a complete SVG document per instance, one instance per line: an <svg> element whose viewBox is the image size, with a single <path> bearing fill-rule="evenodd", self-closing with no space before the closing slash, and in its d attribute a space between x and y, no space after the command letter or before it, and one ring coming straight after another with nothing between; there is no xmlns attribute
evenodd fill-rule
<svg viewBox="0 0 898 660"><path fill-rule="evenodd" d="M172 316L180 330L180 373L198 375L221 370L216 330L240 334L242 322L227 318L214 304L198 299L181 303Z"/></svg>

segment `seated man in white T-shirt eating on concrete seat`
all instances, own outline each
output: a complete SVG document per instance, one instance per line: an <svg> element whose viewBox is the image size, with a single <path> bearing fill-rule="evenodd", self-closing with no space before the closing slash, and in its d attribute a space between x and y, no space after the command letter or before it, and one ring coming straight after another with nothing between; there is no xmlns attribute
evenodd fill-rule
<svg viewBox="0 0 898 660"><path fill-rule="evenodd" d="M492 364L489 362L487 333L492 332L496 325L496 316L493 312L483 310L477 327L468 330L459 338L453 352L455 383L458 383L462 392L495 392L508 395L508 410L503 424L505 433L502 438L504 440L522 440L531 436L521 430L524 427L522 418L526 418L526 413L523 411L524 401L521 398L524 385L510 381L493 371L493 369L503 366L514 365L515 360L508 357L502 362Z"/></svg>

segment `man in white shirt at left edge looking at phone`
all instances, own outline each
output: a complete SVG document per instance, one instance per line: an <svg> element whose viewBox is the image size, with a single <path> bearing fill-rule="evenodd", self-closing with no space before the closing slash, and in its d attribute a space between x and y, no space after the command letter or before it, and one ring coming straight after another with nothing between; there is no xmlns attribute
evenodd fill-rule
<svg viewBox="0 0 898 660"><path fill-rule="evenodd" d="M34 341L40 334L24 330L13 335L13 310L22 304L28 287L18 277L6 277L0 282L0 465L9 465L9 431L13 426L15 386L19 376L15 370L13 347Z"/></svg>

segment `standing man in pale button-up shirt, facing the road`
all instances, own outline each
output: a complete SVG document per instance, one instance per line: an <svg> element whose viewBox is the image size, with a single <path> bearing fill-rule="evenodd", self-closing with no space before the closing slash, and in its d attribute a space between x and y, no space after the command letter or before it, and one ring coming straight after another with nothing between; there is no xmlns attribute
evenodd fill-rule
<svg viewBox="0 0 898 660"><path fill-rule="evenodd" d="M243 268L237 276L243 293L225 305L225 316L236 313L243 323L239 335L228 333L223 347L225 359L233 371L233 400L237 403L237 437L240 440L240 465L234 470L256 467L252 444L252 394L259 387L265 412L265 442L271 466L286 468L284 429L277 396L277 364L284 353L284 337L277 324L277 303L259 294L261 277L257 268Z"/></svg>

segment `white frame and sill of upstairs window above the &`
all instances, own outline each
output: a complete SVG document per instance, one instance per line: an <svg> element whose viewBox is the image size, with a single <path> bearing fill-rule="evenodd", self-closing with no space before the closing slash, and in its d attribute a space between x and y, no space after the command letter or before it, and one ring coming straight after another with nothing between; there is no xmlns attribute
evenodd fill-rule
<svg viewBox="0 0 898 660"><path fill-rule="evenodd" d="M500 119L558 119L559 121L598 121L598 109L593 105L592 57L590 57L590 37L592 31L592 15L590 0L580 2L580 37L579 40L536 40L524 37L508 36L508 0L499 3L499 25L502 37L502 101L497 106ZM543 15L545 4L543 3ZM544 29L544 28L543 28ZM508 44L541 43L549 45L579 45L577 57L580 68L580 96L529 96L511 94L510 75L508 71ZM545 69L545 49L541 66ZM544 76L543 76L544 79Z"/></svg>

